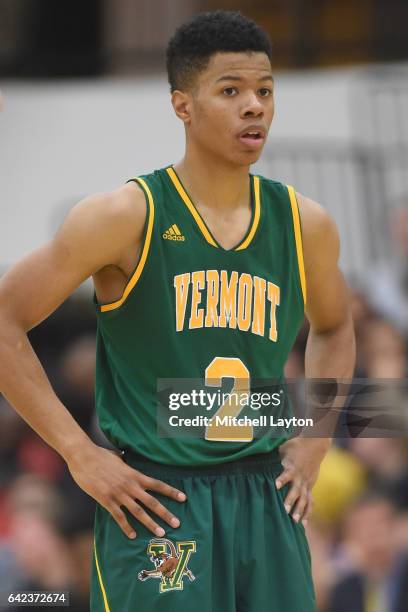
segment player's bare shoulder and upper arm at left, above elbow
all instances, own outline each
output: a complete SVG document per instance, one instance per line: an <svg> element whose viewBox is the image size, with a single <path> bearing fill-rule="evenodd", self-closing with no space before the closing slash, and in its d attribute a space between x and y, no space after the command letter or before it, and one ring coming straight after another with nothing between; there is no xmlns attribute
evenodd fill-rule
<svg viewBox="0 0 408 612"><path fill-rule="evenodd" d="M135 183L88 197L67 215L53 240L0 280L0 312L25 331L49 316L84 280L142 239L144 194Z"/></svg>

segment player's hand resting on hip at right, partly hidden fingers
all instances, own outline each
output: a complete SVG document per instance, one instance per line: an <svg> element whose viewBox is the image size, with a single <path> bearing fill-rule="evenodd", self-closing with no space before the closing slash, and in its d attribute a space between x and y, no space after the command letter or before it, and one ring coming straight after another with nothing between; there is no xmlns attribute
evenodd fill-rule
<svg viewBox="0 0 408 612"><path fill-rule="evenodd" d="M283 471L275 480L281 489L290 483L285 509L297 523L306 525L312 512L312 489L319 475L320 464L330 448L326 438L293 438L279 447Z"/></svg>

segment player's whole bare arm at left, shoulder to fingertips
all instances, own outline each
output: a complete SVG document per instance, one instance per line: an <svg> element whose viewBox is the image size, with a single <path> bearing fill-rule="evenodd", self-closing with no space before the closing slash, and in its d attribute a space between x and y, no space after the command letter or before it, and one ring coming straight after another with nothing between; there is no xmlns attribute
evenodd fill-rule
<svg viewBox="0 0 408 612"><path fill-rule="evenodd" d="M71 210L52 241L23 258L0 280L0 391L129 537L136 534L123 508L162 536L164 530L138 502L177 527L178 519L148 491L178 501L185 495L145 477L90 440L56 396L27 332L90 276L95 278L98 299L120 297L128 269L138 258L145 217L144 195L134 183L86 198Z"/></svg>

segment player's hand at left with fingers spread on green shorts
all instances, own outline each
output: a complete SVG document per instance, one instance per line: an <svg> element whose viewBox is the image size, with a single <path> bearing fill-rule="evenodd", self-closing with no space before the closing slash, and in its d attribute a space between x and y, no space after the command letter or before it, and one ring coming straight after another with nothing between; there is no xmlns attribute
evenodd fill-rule
<svg viewBox="0 0 408 612"><path fill-rule="evenodd" d="M165 531L144 508L151 510L171 527L179 527L178 518L148 491L178 502L185 501L186 495L161 480L149 478L131 468L117 452L92 444L70 458L68 468L81 489L110 512L129 538L135 538L137 534L129 524L124 509L158 537L163 537Z"/></svg>

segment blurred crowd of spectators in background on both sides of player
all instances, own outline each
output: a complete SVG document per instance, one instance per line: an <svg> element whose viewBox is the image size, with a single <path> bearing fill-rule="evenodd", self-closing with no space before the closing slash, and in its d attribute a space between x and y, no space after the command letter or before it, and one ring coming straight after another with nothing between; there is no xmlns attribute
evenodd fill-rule
<svg viewBox="0 0 408 612"><path fill-rule="evenodd" d="M407 378L408 210L396 214L392 231L393 263L348 279L358 379ZM73 296L30 340L59 397L106 445L94 414L95 325L91 300ZM304 374L306 337L305 326L288 377ZM405 416L401 386L391 385L383 401ZM318 612L408 610L408 427L398 427L400 435L367 437L363 428L336 437L322 464L307 527ZM93 511L62 459L0 397L0 592L68 590L71 610L89 610Z"/></svg>

